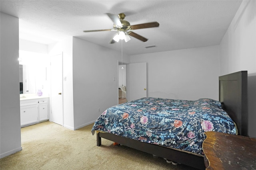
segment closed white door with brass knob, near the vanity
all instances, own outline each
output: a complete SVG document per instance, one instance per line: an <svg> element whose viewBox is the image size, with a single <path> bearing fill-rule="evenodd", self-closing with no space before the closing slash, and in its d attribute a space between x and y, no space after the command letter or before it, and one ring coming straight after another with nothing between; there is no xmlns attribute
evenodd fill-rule
<svg viewBox="0 0 256 170"><path fill-rule="evenodd" d="M63 126L63 81L62 54L51 57L51 117L54 123Z"/></svg>

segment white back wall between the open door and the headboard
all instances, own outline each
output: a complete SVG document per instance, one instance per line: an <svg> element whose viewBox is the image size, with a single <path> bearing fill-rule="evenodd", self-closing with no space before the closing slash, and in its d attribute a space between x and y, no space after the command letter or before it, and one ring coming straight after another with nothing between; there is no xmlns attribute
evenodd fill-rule
<svg viewBox="0 0 256 170"><path fill-rule="evenodd" d="M130 56L148 66L148 97L218 100L217 46Z"/></svg>

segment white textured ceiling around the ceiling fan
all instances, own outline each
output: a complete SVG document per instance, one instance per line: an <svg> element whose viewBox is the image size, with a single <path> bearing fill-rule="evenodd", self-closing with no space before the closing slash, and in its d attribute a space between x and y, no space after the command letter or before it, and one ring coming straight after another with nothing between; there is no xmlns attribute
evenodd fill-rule
<svg viewBox="0 0 256 170"><path fill-rule="evenodd" d="M158 21L159 27L136 29L146 37L125 43L128 55L218 45L242 1L240 0L1 0L1 12L20 18L20 38L50 44L66 36L121 51L121 41L109 44L116 32L105 13L126 14L131 25ZM146 46L155 45L146 49Z"/></svg>

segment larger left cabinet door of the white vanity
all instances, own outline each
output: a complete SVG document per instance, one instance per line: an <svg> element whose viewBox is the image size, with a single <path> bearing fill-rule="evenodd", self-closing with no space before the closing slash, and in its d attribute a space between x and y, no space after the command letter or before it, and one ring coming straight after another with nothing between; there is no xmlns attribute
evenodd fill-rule
<svg viewBox="0 0 256 170"><path fill-rule="evenodd" d="M38 106L22 106L20 107L20 125L35 123L38 121Z"/></svg>

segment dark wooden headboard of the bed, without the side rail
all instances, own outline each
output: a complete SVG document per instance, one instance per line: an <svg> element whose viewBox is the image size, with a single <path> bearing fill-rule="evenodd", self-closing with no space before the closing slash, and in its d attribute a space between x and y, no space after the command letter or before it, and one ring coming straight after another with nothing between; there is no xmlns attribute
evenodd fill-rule
<svg viewBox="0 0 256 170"><path fill-rule="evenodd" d="M221 107L236 123L238 135L248 136L247 71L219 77L219 101Z"/></svg>

